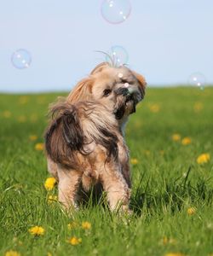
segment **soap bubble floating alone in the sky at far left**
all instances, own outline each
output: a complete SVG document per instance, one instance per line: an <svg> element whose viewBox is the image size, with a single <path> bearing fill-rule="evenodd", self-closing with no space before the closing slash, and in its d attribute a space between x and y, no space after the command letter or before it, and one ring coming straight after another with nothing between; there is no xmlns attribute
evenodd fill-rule
<svg viewBox="0 0 213 256"><path fill-rule="evenodd" d="M32 62L31 54L26 49L17 49L11 58L14 67L24 69L30 67Z"/></svg>

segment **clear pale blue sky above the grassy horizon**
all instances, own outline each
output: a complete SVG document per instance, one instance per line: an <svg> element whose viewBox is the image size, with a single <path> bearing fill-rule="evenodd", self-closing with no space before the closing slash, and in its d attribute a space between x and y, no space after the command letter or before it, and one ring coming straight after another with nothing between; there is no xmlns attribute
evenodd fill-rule
<svg viewBox="0 0 213 256"><path fill-rule="evenodd" d="M100 0L0 0L0 91L70 90L96 64L95 50L121 45L150 86L186 84L203 73L213 84L213 1L135 0L130 17L112 25ZM11 64L27 49L32 64Z"/></svg>

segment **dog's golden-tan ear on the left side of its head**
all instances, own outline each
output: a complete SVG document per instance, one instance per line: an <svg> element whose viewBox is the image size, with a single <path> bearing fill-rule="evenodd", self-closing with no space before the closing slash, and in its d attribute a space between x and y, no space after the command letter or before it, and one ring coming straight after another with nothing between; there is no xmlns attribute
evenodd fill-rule
<svg viewBox="0 0 213 256"><path fill-rule="evenodd" d="M93 79L86 78L82 79L72 89L71 93L67 96L66 101L75 104L80 101L89 101L93 98L92 96Z"/></svg>

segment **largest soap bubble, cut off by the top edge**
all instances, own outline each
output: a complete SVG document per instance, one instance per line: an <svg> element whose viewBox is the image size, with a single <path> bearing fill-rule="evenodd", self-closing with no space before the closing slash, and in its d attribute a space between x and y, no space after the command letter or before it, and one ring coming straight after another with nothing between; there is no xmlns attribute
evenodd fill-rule
<svg viewBox="0 0 213 256"><path fill-rule="evenodd" d="M104 0L101 4L101 15L109 23L124 22L131 12L129 0Z"/></svg>

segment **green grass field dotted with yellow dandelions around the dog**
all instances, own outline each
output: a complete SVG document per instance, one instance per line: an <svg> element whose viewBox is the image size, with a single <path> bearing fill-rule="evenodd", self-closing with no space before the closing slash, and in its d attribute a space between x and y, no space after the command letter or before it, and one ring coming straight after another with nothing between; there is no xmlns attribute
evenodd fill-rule
<svg viewBox="0 0 213 256"><path fill-rule="evenodd" d="M213 88L147 89L126 131L129 217L91 200L71 217L48 201L39 143L59 95L0 95L0 255L213 255Z"/></svg>

